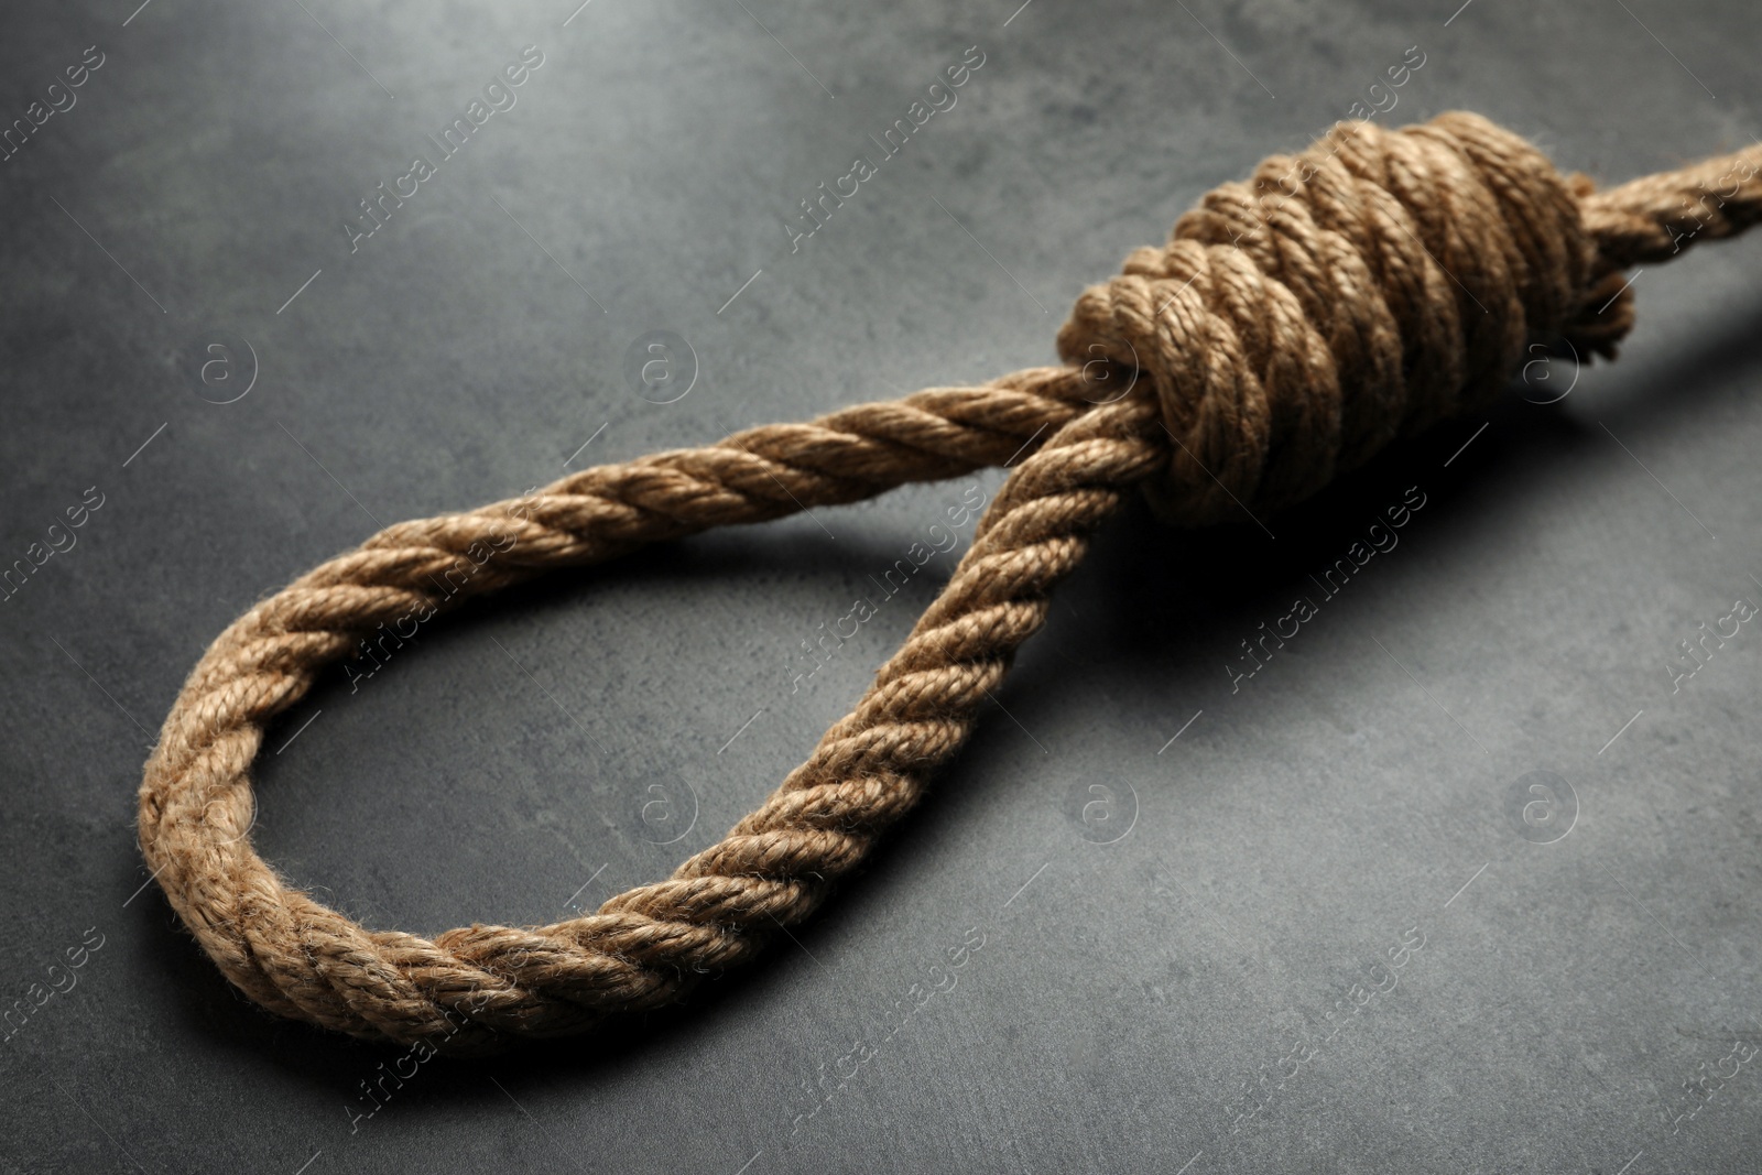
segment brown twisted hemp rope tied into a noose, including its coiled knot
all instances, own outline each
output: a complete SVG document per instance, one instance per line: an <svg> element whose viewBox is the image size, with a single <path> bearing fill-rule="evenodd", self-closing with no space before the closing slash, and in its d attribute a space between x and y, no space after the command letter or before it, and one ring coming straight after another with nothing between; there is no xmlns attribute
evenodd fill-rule
<svg viewBox="0 0 1762 1175"><path fill-rule="evenodd" d="M1751 146L1593 194L1477 115L1339 123L1210 192L1166 247L1085 291L1059 331L1066 366L751 428L388 527L259 602L197 662L141 782L146 865L234 985L328 1029L481 1052L675 1001L807 918L918 802L1128 490L1145 486L1182 523L1276 509L1394 437L1487 403L1536 335L1612 356L1632 324L1623 271L1762 218L1758 171ZM361 928L252 849L264 724L375 625L1024 449L874 685L666 881L548 927L423 939ZM440 590L486 548L455 597Z"/></svg>

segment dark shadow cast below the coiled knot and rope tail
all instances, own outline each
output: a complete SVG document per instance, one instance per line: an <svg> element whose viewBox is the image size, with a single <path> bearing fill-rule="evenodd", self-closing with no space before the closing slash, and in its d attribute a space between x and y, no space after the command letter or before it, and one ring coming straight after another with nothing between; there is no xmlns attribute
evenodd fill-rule
<svg viewBox="0 0 1762 1175"><path fill-rule="evenodd" d="M1255 631L1270 608L1283 611L1304 585L1313 594L1311 574L1320 574L1351 543L1364 539L1366 528L1383 520L1388 506L1401 504L1408 486L1417 484L1427 495L1422 518L1427 541L1443 543L1464 525L1522 502L1544 479L1542 467L1551 481L1591 486L1593 470L1610 453L1619 453L1598 419L1623 439L1644 437L1665 421L1736 403L1743 395L1736 381L1744 373L1762 375L1758 340L1762 301L1723 315L1697 338L1674 344L1669 365L1660 363L1642 386L1612 379L1621 370L1618 365L1588 363L1577 372L1568 396L1536 403L1533 400L1558 393L1540 379L1528 386L1512 381L1492 410L1397 440L1316 497L1262 518L1276 537L1246 513L1232 525L1170 528L1147 506L1133 502L1096 536L1084 565L1062 587L1061 595L1084 620L1082 632L1073 634L1073 625L1062 624L1071 613L1055 608L1047 632L1034 643L1048 652L1073 654L1082 641L1080 661L1110 669L1166 666L1198 648L1233 657L1230 643L1237 634ZM1565 366L1547 375L1556 386L1572 375L1572 361L1559 363ZM1603 388L1610 382L1626 388L1610 396ZM1591 412L1588 402L1603 403ZM1487 428L1477 435L1482 421ZM1403 532L1403 543L1408 534ZM1209 634L1214 625L1221 625L1218 636ZM1207 664L1210 661L1207 657ZM1225 680L1216 668L1210 673ZM1011 678L1004 689L1024 685Z"/></svg>

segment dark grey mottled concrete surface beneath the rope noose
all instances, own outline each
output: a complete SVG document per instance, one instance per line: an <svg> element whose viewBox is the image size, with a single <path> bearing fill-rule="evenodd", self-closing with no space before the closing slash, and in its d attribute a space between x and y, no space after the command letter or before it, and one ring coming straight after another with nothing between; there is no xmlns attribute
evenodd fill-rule
<svg viewBox="0 0 1762 1175"><path fill-rule="evenodd" d="M1133 509L874 867L626 1036L370 1101L398 1053L234 995L132 831L208 639L377 523L1048 361L1084 284L1387 106L1410 48L1390 123L1478 109L1610 181L1732 150L1751 5L136 2L0 21L0 116L74 100L0 164L0 562L100 500L0 604L0 1170L1755 1170L1762 631L1670 666L1762 602L1762 238L1647 268L1619 365L1535 368L1269 530ZM518 104L351 252L525 46ZM973 46L791 254L798 201ZM663 329L698 368L671 403L624 373ZM423 932L661 877L953 555L791 691L800 643L996 486L435 624L270 731L257 844ZM1399 546L1233 692L1239 641L1410 486Z"/></svg>

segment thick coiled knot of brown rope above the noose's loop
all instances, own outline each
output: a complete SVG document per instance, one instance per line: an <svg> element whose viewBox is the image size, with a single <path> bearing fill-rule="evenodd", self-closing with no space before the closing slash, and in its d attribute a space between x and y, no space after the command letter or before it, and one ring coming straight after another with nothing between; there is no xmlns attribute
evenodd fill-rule
<svg viewBox="0 0 1762 1175"><path fill-rule="evenodd" d="M1170 521L1304 499L1388 440L1489 402L1533 336L1612 354L1632 310L1581 217L1591 185L1470 113L1337 123L1225 183L1161 248L1091 285L1068 363L1147 381L1170 453ZM1595 291L1593 291L1595 285Z"/></svg>

